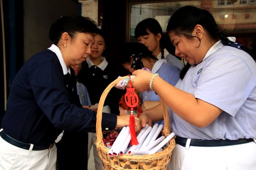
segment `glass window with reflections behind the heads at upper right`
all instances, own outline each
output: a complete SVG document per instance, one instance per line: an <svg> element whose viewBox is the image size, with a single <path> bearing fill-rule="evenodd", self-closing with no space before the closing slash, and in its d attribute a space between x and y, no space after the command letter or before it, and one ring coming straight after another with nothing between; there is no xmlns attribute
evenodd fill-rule
<svg viewBox="0 0 256 170"><path fill-rule="evenodd" d="M162 31L166 32L169 17L184 5L208 10L225 34L235 36L238 42L256 51L255 0L129 0L129 41L137 41L134 38L134 29L138 22L148 17L155 18Z"/></svg>

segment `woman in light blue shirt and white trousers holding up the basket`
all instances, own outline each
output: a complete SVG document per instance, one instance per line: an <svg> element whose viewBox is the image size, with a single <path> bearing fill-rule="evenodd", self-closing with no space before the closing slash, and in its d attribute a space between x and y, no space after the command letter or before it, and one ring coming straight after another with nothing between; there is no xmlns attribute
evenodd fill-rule
<svg viewBox="0 0 256 170"><path fill-rule="evenodd" d="M144 70L132 73L132 86L154 89L169 107L176 145L168 170L255 170L255 55L194 6L174 12L167 33L190 67L175 87ZM148 110L139 119L144 127L162 117Z"/></svg>

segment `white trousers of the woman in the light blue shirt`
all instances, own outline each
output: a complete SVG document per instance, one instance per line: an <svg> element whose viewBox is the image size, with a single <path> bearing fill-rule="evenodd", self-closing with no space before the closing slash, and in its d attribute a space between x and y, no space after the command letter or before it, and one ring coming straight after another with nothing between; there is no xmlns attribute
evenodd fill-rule
<svg viewBox="0 0 256 170"><path fill-rule="evenodd" d="M256 170L256 143L188 149L176 144L167 170Z"/></svg>

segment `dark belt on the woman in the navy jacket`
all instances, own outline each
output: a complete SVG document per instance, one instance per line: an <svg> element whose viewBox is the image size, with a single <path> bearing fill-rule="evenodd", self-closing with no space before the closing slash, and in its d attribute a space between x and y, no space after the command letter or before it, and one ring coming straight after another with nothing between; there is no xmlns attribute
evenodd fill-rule
<svg viewBox="0 0 256 170"><path fill-rule="evenodd" d="M23 142L19 142L11 137L9 137L7 134L5 134L3 131L0 132L0 137L6 141L7 143L18 147L18 148L22 148L24 150L29 150L30 148L30 144L26 144ZM33 146L32 151L41 151L41 150L46 150L46 149L51 149L54 146L54 143L51 144L50 146Z"/></svg>

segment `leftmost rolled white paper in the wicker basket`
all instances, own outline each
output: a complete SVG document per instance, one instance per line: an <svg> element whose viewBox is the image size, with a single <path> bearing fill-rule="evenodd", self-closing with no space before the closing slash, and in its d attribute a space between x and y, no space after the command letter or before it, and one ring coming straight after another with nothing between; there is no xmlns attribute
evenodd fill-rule
<svg viewBox="0 0 256 170"><path fill-rule="evenodd" d="M107 153L109 157L117 156L117 154L119 153L122 144L124 143L124 141L127 139L129 135L129 131L127 131L127 129L128 129L127 126L123 127L120 133L118 134L118 136L116 137L113 145L111 146L111 148Z"/></svg>

